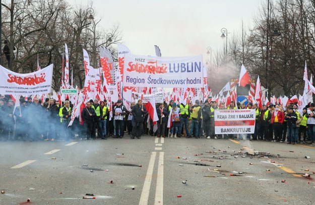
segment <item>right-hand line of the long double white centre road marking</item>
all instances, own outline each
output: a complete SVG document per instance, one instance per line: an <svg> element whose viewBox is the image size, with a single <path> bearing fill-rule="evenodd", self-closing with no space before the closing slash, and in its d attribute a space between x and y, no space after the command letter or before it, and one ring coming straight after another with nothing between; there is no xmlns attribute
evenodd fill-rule
<svg viewBox="0 0 315 205"><path fill-rule="evenodd" d="M160 152L154 204L163 204L164 151Z"/></svg>

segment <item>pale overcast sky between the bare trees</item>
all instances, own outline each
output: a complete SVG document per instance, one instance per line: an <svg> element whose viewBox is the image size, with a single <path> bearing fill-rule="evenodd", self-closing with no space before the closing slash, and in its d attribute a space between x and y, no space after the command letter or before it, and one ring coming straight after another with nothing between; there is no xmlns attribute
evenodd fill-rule
<svg viewBox="0 0 315 205"><path fill-rule="evenodd" d="M133 54L162 56L207 56L223 48L221 28L230 34L248 26L262 1L267 0L69 0L75 7L92 3L95 20L109 29L115 24L123 34L123 44ZM228 36L228 37L229 37ZM204 59L205 61L205 59Z"/></svg>

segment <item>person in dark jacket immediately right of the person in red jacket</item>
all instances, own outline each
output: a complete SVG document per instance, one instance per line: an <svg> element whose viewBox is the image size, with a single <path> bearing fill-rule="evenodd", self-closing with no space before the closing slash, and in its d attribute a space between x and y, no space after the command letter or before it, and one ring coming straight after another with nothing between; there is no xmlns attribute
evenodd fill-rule
<svg viewBox="0 0 315 205"><path fill-rule="evenodd" d="M285 115L285 119L287 120L288 126L288 144L295 144L298 139L298 127L296 127L297 115L292 107L289 108L288 113Z"/></svg>

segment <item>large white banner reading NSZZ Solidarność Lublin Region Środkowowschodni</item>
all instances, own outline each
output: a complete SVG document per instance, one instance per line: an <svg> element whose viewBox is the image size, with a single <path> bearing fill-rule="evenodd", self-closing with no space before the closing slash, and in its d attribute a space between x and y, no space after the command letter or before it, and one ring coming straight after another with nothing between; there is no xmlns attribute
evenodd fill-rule
<svg viewBox="0 0 315 205"><path fill-rule="evenodd" d="M126 54L123 85L136 87L203 87L202 56L153 57Z"/></svg>

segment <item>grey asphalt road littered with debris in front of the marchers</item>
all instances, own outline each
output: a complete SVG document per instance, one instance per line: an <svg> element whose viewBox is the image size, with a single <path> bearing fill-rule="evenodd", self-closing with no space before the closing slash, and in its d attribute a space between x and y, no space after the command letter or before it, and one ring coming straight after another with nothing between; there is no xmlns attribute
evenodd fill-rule
<svg viewBox="0 0 315 205"><path fill-rule="evenodd" d="M0 204L315 204L314 148L128 135L0 142Z"/></svg>

